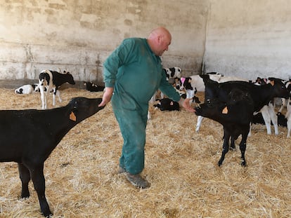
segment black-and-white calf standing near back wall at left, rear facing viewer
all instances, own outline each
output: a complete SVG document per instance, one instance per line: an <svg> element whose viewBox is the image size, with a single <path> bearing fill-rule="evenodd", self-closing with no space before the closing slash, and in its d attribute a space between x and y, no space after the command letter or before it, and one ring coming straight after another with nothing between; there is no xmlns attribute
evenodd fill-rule
<svg viewBox="0 0 291 218"><path fill-rule="evenodd" d="M39 74L39 88L41 93L41 108L46 109L46 95L53 90L53 106L56 105L56 95L58 95L58 100L61 102L60 93L58 88L64 83L70 83L71 85L75 85L75 81L73 79L72 74L64 71L63 74L45 69L41 71ZM46 91L45 91L46 89Z"/></svg>

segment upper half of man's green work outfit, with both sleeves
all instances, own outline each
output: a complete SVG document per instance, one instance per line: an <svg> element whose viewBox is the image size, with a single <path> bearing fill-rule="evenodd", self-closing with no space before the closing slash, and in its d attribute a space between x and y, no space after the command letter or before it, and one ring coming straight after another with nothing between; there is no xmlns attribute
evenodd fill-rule
<svg viewBox="0 0 291 218"><path fill-rule="evenodd" d="M115 93L130 95L136 102L148 104L157 89L176 102L180 100L146 39L124 39L105 60L103 70L105 87L114 87Z"/></svg>

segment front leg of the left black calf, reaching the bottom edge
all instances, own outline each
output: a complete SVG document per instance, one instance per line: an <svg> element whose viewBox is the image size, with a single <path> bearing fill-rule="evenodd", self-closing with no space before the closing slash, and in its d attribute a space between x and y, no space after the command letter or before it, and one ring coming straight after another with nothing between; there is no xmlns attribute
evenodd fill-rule
<svg viewBox="0 0 291 218"><path fill-rule="evenodd" d="M37 166L30 170L32 176L32 182L34 184L34 189L37 191L37 196L39 198L39 205L41 207L41 212L44 214L44 217L49 217L52 213L49 209L48 202L46 201L46 186L44 180L44 164Z"/></svg>

